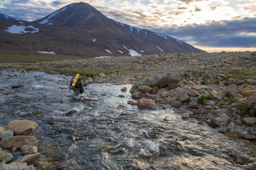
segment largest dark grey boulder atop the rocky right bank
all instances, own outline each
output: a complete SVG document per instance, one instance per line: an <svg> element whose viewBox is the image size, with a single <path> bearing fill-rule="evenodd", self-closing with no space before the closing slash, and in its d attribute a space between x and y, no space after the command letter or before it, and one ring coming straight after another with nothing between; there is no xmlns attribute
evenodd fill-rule
<svg viewBox="0 0 256 170"><path fill-rule="evenodd" d="M163 88L168 86L169 84L176 84L181 81L179 75L167 73L167 74L158 74L155 75L151 80L152 86L157 86L159 88Z"/></svg>

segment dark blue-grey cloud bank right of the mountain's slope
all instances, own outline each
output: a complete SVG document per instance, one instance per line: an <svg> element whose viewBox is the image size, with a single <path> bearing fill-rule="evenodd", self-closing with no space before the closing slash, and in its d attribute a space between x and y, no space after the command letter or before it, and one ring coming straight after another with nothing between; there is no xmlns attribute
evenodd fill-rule
<svg viewBox="0 0 256 170"><path fill-rule="evenodd" d="M182 39L193 45L215 47L256 47L256 18L211 22L178 28L152 28L162 34Z"/></svg>

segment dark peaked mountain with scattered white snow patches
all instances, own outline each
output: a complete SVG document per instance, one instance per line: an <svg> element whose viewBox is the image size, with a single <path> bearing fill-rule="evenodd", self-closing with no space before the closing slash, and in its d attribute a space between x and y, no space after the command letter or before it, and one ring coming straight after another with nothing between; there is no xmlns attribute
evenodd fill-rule
<svg viewBox="0 0 256 170"><path fill-rule="evenodd" d="M204 52L171 36L114 21L84 2L32 22L0 21L0 50L5 51L77 56Z"/></svg>

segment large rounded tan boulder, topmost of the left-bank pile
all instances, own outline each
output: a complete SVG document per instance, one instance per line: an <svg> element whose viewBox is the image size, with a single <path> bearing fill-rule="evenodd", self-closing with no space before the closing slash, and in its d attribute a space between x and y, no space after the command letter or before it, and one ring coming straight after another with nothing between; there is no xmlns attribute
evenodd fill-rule
<svg viewBox="0 0 256 170"><path fill-rule="evenodd" d="M29 120L12 121L8 124L8 129L14 131L14 135L26 135L37 127L37 123Z"/></svg>

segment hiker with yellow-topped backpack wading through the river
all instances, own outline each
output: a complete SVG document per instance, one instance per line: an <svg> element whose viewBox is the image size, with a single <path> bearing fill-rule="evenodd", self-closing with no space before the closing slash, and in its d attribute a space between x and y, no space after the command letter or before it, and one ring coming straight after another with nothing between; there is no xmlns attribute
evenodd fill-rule
<svg viewBox="0 0 256 170"><path fill-rule="evenodd" d="M74 94L80 95L84 92L84 82L86 81L86 78L81 76L80 74L76 74L73 76L73 78L70 81L69 89L74 91Z"/></svg>

